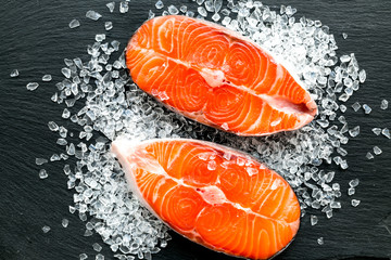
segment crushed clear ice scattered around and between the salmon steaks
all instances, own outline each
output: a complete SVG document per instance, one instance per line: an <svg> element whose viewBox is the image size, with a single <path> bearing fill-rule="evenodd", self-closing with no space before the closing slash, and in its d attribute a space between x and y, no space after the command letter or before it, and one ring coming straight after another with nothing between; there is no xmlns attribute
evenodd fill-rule
<svg viewBox="0 0 391 260"><path fill-rule="evenodd" d="M360 133L360 126L349 128L345 118L340 116L346 110L341 102L346 102L366 79L355 55L338 57L337 41L329 28L320 21L295 20L297 10L290 5L274 10L251 0L229 0L226 6L222 0L193 1L199 5L195 10L186 5L167 5L164 10L161 0L155 2L155 8L160 12L157 15L180 12L205 18L211 14L213 21L220 21L224 26L273 51L280 60L287 61L287 67L294 68L292 72L316 100L319 115L300 130L264 138L235 136L187 120L157 104L131 82L125 69L124 53L118 52L126 43L121 44L106 39L104 34L98 34L96 42L88 46L89 60L64 58L66 66L61 69L64 79L55 84L56 92L51 100L65 103L62 118L70 119L81 130L77 133L79 142L71 142L66 140L71 135L68 130L50 121L50 130L60 134L56 143L64 148L63 153L53 154L50 160L67 159L68 156L77 158L76 165L64 166L67 187L76 191L75 205L70 206L70 212L77 212L80 220L87 222L86 236L92 235L92 231L99 233L118 259L134 259L129 253L151 259L151 253L159 252L171 239L167 227L128 191L122 168L108 152L110 142L121 134L137 140L180 136L226 144L248 152L283 176L298 194L303 216L306 208L313 208L331 218L333 210L341 208L338 202L342 196L340 184L332 182L336 172L325 168L336 164L346 169L348 161L343 157L348 152L342 145L349 142L348 134L357 136ZM128 12L128 1L118 4L117 12ZM115 2L109 2L106 6L114 12ZM148 18L155 15L150 11ZM102 15L90 10L86 17L98 21ZM112 27L111 22L104 22L105 30ZM346 34L342 36L344 39L348 37ZM15 74L17 70L11 73L11 77ZM36 88L36 82L27 84L29 90ZM84 106L74 108L76 102ZM387 106L388 102L382 101L381 108ZM352 107L358 110L361 105L354 103ZM363 105L363 109L368 114L371 108ZM228 125L223 123L222 128L228 129ZM391 138L387 128L373 131ZM374 147L374 154L380 153L380 148L375 151ZM46 162L48 159L36 159L37 165ZM207 169L215 168L215 160L210 159ZM253 170L249 168L249 174L255 174ZM355 193L355 183L350 185L349 195ZM360 200L353 200L352 205L360 204ZM310 219L312 225L318 222L315 214ZM62 225L66 227L67 224L64 219ZM324 244L323 237L318 244ZM96 251L101 250L99 244L92 247ZM79 255L79 259L86 258L87 255ZM96 259L104 257L98 253Z"/></svg>

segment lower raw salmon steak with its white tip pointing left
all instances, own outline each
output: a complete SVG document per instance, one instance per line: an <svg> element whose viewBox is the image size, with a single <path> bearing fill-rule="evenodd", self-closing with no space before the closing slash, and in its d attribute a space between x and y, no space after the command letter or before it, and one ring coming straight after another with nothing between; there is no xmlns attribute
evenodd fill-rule
<svg viewBox="0 0 391 260"><path fill-rule="evenodd" d="M245 154L187 139L117 139L112 152L140 202L210 249L268 259L299 230L300 205L290 185Z"/></svg>

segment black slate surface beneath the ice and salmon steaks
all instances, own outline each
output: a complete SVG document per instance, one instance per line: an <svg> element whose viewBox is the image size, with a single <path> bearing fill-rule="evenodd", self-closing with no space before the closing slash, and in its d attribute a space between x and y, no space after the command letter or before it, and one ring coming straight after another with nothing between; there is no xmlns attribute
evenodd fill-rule
<svg viewBox="0 0 391 260"><path fill-rule="evenodd" d="M54 83L61 79L64 57L87 57L86 47L94 35L104 32L103 23L112 21L114 28L106 32L112 39L126 41L147 18L154 1L133 0L127 14L109 13L108 1L99 0L3 0L0 4L0 259L77 259L86 252L94 259L91 245L99 235L85 237L84 223L68 212L73 191L66 188L63 162L46 165L49 178L40 180L35 165L36 157L50 157L61 150L55 146L56 134L47 127L61 119L63 106L54 105L50 96ZM118 2L118 1L116 1ZM165 1L166 3L168 1ZM171 1L172 3L188 3ZM350 206L345 194L342 209L331 220L319 217L319 223L311 226L308 216L302 220L297 239L278 259L363 259L391 257L391 140L376 136L373 127L391 128L391 108L380 110L380 100L391 101L391 8L388 0L266 0L265 4L292 4L301 15L320 20L335 34L339 54L354 52L361 67L368 75L367 81L346 102L345 116L350 126L360 125L362 132L346 145L348 170L338 170L336 181L343 191L348 181L360 178L357 208ZM103 17L87 20L88 10L100 12ZM81 26L70 29L68 23L78 18ZM341 32L349 35L343 40ZM10 78L12 69L20 77ZM52 82L40 82L45 74L53 76ZM40 82L35 92L26 90L29 81ZM374 108L370 115L354 113L350 105L358 101ZM72 129L72 128L71 128ZM383 154L367 160L365 154L379 145ZM317 213L319 216L319 213ZM70 220L67 229L61 226L62 218ZM387 220L388 218L388 220ZM388 223L388 229L387 229ZM48 234L41 227L51 226ZM230 259L202 248L178 235L154 259ZM325 237L325 245L316 243ZM106 246L102 252L106 259L113 253Z"/></svg>

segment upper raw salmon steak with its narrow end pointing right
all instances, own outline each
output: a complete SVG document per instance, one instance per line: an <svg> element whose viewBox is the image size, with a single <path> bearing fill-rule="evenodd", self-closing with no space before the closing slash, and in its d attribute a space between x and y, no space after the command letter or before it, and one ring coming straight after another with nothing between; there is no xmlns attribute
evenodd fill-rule
<svg viewBox="0 0 391 260"><path fill-rule="evenodd" d="M285 66L255 42L180 15L146 22L131 37L134 82L168 108L238 135L295 130L317 106Z"/></svg>

